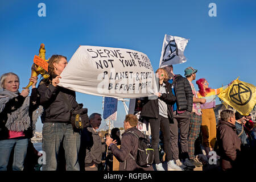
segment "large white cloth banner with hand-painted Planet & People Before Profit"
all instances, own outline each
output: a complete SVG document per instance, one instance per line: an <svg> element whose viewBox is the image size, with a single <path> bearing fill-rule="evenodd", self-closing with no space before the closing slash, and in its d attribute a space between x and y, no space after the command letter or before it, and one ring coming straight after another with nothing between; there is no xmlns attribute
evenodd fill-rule
<svg viewBox="0 0 256 182"><path fill-rule="evenodd" d="M59 86L96 96L138 98L157 92L147 55L130 49L80 46L60 76Z"/></svg>

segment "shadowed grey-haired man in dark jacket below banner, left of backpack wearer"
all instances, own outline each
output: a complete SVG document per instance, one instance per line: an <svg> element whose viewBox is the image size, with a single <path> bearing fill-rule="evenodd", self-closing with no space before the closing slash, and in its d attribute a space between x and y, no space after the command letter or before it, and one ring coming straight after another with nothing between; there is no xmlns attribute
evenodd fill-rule
<svg viewBox="0 0 256 182"><path fill-rule="evenodd" d="M86 127L81 134L81 148L86 148L85 171L98 171L103 150L101 138L96 130L101 125L101 114L91 114L89 124L90 126Z"/></svg>

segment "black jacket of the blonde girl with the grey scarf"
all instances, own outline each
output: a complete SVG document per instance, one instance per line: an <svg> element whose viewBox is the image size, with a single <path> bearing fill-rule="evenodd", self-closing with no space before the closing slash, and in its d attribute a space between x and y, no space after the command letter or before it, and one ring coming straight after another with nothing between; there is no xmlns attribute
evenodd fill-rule
<svg viewBox="0 0 256 182"><path fill-rule="evenodd" d="M5 127L6 121L7 121L7 114L11 114L13 111L18 109L23 105L25 98L23 96L17 96L6 102L5 108L0 113L0 140L4 140L9 138L9 130L7 127ZM36 110L40 103L40 94L36 90L36 88L32 89L31 96L30 96L30 107L28 109L28 115L30 116L31 126L24 131L26 138L32 138L32 113L34 110ZM12 110L11 108L14 107L15 110Z"/></svg>

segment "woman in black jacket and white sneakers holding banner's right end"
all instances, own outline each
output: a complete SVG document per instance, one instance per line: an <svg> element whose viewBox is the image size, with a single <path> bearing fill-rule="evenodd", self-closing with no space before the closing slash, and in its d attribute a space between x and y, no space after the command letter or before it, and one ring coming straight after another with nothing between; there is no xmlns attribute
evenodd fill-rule
<svg viewBox="0 0 256 182"><path fill-rule="evenodd" d="M141 117L150 123L151 129L151 144L154 149L155 167L158 171L164 171L163 164L159 159L159 131L163 135L163 148L166 152L168 171L181 170L172 159L170 146L170 131L169 125L173 123L172 105L176 97L171 92L171 84L168 82L167 72L163 68L156 71L156 76L159 78L159 92L156 93L156 99L146 100L142 107Z"/></svg>

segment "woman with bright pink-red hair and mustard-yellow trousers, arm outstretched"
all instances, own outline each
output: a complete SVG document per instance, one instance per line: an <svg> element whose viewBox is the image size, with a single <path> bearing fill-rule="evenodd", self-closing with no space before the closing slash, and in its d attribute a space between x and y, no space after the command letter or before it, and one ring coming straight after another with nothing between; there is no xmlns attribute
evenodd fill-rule
<svg viewBox="0 0 256 182"><path fill-rule="evenodd" d="M197 96L199 98L204 98L206 100L205 104L201 104L202 111L202 135L203 135L203 146L205 147L205 152L209 157L209 151L214 149L216 142L216 117L213 108L216 105L215 97L222 90L226 89L228 85L223 86L218 89L209 88L209 84L205 78L200 78L196 81L198 85L199 92ZM230 83L231 84L231 83Z"/></svg>

